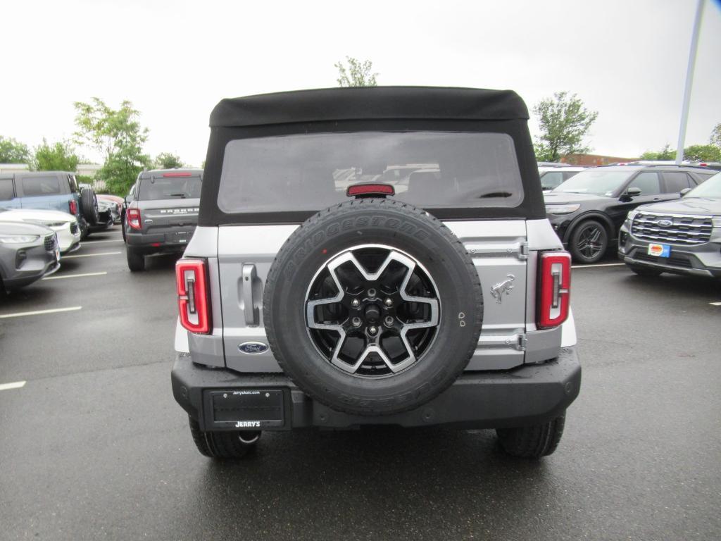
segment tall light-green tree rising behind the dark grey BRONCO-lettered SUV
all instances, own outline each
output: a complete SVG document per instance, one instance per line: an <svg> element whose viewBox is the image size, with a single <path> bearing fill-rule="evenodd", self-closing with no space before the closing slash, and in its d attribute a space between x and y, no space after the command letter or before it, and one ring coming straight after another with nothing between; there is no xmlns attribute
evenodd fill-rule
<svg viewBox="0 0 721 541"><path fill-rule="evenodd" d="M108 107L97 97L91 102L75 102L76 141L103 154L97 179L105 181L110 193L123 194L136 181L138 173L150 164L143 154L148 129L138 122L140 113L127 100L118 109Z"/></svg>

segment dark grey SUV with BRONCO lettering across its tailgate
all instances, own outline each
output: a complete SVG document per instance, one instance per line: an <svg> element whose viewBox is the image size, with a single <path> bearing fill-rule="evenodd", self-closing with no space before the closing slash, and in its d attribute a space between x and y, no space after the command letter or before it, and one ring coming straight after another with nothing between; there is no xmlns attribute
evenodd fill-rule
<svg viewBox="0 0 721 541"><path fill-rule="evenodd" d="M143 171L126 198L123 239L131 271L145 270L145 256L182 253L198 225L203 170Z"/></svg>

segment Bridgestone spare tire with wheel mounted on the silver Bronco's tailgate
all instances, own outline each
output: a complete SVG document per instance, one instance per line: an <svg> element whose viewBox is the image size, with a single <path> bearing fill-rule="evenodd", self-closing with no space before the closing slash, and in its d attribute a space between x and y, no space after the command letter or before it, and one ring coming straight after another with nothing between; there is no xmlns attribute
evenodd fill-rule
<svg viewBox="0 0 721 541"><path fill-rule="evenodd" d="M283 371L329 408L387 415L446 390L483 317L464 245L425 211L366 198L320 211L278 252L263 295Z"/></svg>

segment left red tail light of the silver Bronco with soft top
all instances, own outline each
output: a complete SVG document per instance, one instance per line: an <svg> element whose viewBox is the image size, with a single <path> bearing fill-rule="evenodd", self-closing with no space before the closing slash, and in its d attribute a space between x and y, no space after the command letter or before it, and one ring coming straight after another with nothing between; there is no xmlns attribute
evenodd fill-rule
<svg viewBox="0 0 721 541"><path fill-rule="evenodd" d="M208 271L205 261L181 259L175 264L180 325L191 333L211 332L211 307L208 302Z"/></svg>

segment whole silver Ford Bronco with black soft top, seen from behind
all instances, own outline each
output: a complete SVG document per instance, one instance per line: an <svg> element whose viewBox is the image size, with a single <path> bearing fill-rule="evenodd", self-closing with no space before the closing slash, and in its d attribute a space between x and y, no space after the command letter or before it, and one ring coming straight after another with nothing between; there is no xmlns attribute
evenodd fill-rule
<svg viewBox="0 0 721 541"><path fill-rule="evenodd" d="M515 92L485 89L216 106L176 267L172 389L201 453L381 424L554 452L581 369L527 121Z"/></svg>

